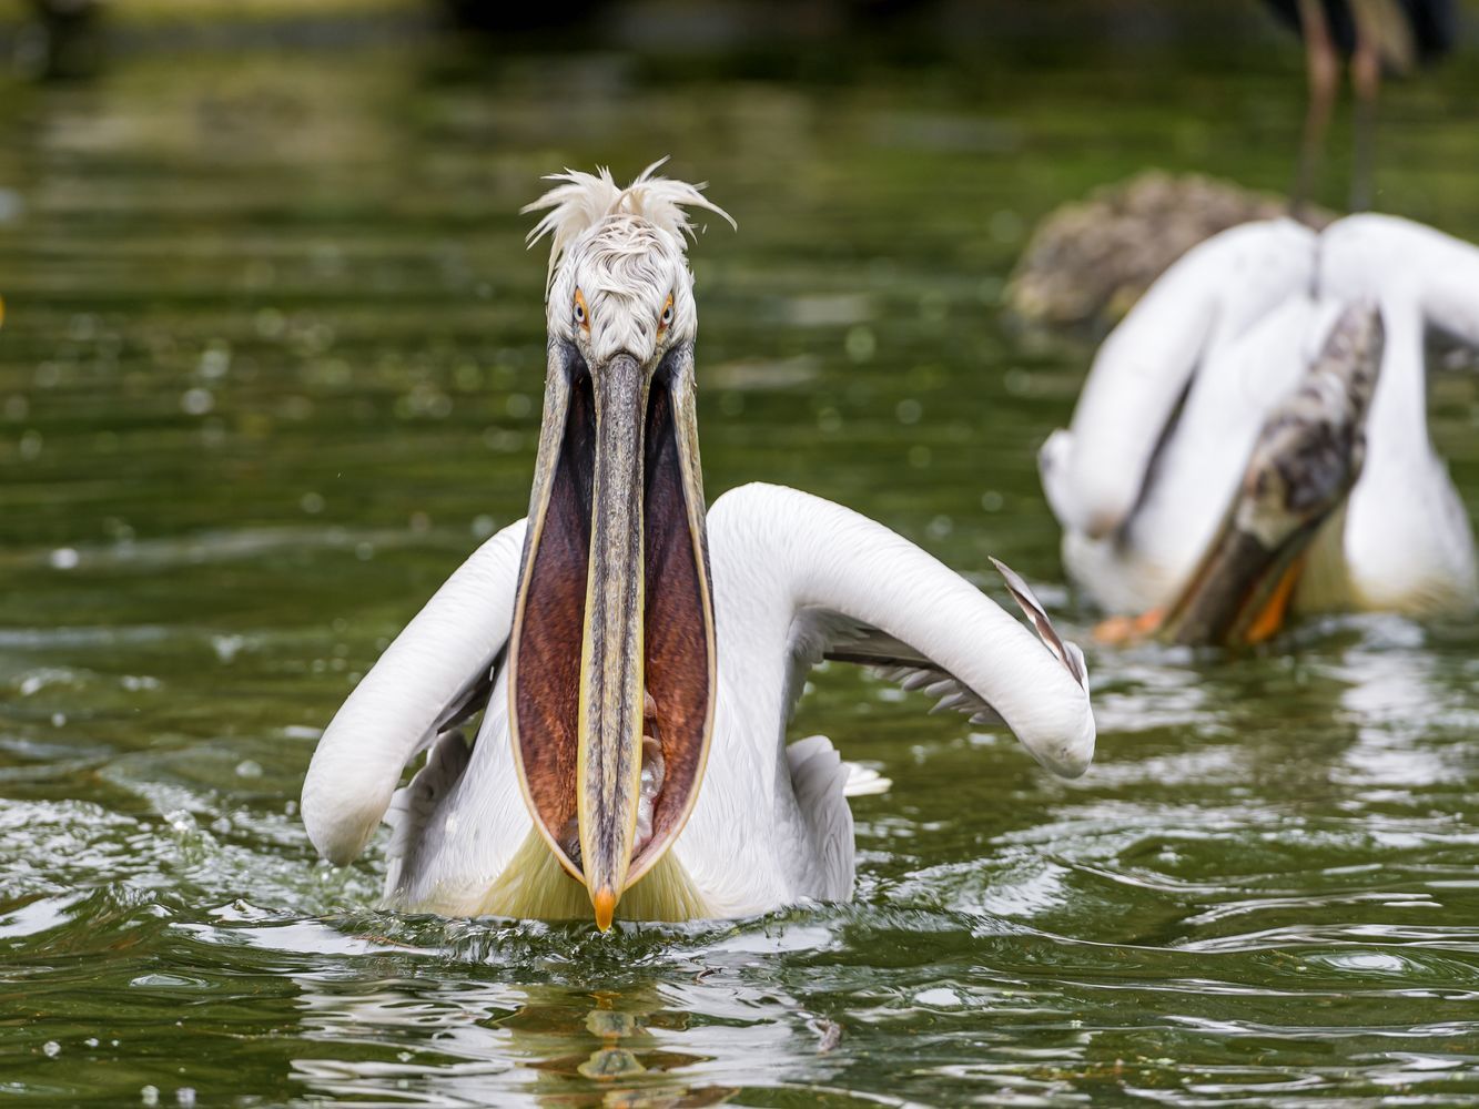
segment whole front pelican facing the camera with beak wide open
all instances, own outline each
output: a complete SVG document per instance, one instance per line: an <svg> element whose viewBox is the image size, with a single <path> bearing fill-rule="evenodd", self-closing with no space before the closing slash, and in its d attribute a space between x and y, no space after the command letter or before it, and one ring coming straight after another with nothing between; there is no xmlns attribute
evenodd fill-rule
<svg viewBox="0 0 1479 1109"><path fill-rule="evenodd" d="M853 884L847 796L879 775L787 745L806 671L874 665L1050 770L1094 745L1083 655L1001 568L1034 636L923 550L837 504L745 485L704 509L689 210L648 167L566 170L525 211L552 240L528 519L430 597L324 730L309 838L348 864L383 819L386 903L442 915L748 915ZM732 222L732 220L731 220ZM469 744L458 725L482 711ZM405 787L404 767L426 751Z"/></svg>

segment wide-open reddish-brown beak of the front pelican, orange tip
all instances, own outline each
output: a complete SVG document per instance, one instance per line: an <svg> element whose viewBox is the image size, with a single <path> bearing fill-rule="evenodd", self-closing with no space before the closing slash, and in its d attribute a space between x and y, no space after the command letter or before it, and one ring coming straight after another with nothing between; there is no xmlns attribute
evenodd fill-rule
<svg viewBox="0 0 1479 1109"><path fill-rule="evenodd" d="M552 342L509 643L525 800L596 926L698 797L714 617L692 347L587 367Z"/></svg>

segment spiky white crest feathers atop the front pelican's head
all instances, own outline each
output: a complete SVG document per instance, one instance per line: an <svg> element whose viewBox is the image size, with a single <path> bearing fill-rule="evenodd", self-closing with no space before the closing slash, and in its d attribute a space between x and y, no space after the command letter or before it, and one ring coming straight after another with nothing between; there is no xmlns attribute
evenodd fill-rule
<svg viewBox="0 0 1479 1109"><path fill-rule="evenodd" d="M711 200L704 197L703 189L707 182L691 185L686 180L652 176L667 157L658 158L648 166L626 188L620 188L611 176L611 169L598 166L595 173L565 169L563 173L552 173L544 180L561 182L538 200L519 208L521 214L543 211L544 216L529 231L525 243L534 245L546 235L550 237L550 268L553 278L565 251L581 235L606 219L606 216L637 216L661 228L679 244L683 238L695 238L694 223L688 217L688 208L705 208L720 216L729 226L737 226L734 217Z"/></svg>

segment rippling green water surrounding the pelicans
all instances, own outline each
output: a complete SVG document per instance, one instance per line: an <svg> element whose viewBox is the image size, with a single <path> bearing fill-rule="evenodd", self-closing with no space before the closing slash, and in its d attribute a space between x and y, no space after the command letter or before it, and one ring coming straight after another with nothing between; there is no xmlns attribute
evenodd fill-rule
<svg viewBox="0 0 1479 1109"><path fill-rule="evenodd" d="M796 733L895 781L846 906L395 917L380 847L334 872L296 816L355 677L527 504L540 173L671 152L738 219L694 248L710 497L808 488L1001 597L998 554L1084 642L1032 454L1090 347L1006 330L1003 278L1146 164L1279 186L1297 64L664 84L427 43L7 87L0 1096L1479 1105L1472 624L1090 646L1072 784L834 667ZM1378 183L1479 238L1467 74L1398 90ZM1433 404L1479 513L1479 379Z"/></svg>

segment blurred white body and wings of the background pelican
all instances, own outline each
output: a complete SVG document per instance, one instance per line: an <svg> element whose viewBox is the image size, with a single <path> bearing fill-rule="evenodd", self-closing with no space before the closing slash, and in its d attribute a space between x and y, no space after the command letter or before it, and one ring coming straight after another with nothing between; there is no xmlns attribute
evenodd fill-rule
<svg viewBox="0 0 1479 1109"><path fill-rule="evenodd" d="M1355 333L1359 305L1378 313L1375 334ZM1276 572L1239 594L1225 639L1270 634L1290 606L1473 611L1473 534L1427 433L1429 331L1479 345L1479 250L1418 223L1362 214L1316 234L1272 220L1191 250L1105 340L1071 426L1043 445L1069 575L1112 612L1148 612L1142 628L1185 611L1208 587L1210 560L1226 568L1238 541L1229 513L1250 507L1259 472L1288 461L1260 452L1276 445L1296 390L1331 368L1330 352L1315 352L1333 343L1346 352L1347 387L1361 359L1378 361L1364 420L1362 398L1333 390L1324 423L1310 424L1338 424L1350 402L1364 464L1356 433L1344 466L1359 478L1297 538L1303 552L1257 554Z"/></svg>

